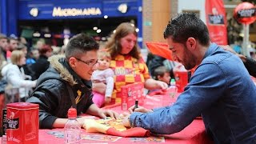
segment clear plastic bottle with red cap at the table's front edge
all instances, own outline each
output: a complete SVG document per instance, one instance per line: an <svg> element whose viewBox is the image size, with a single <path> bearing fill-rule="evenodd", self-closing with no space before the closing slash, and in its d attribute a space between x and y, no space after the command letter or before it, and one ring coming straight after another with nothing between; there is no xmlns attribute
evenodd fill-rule
<svg viewBox="0 0 256 144"><path fill-rule="evenodd" d="M77 110L70 108L67 115L69 119L64 127L65 143L80 143L81 126L77 120Z"/></svg>

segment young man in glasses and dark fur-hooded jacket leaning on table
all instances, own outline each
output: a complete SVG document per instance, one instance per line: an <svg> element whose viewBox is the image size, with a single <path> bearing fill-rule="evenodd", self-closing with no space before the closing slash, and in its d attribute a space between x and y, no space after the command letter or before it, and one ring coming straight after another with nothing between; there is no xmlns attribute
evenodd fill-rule
<svg viewBox="0 0 256 144"><path fill-rule="evenodd" d="M98 43L85 34L70 39L66 56L50 58L50 67L37 82L37 87L26 102L39 105L41 129L64 127L71 106L78 114L86 113L100 118L118 118L111 110L102 110L92 102L90 77L98 66ZM81 126L85 118L78 118Z"/></svg>

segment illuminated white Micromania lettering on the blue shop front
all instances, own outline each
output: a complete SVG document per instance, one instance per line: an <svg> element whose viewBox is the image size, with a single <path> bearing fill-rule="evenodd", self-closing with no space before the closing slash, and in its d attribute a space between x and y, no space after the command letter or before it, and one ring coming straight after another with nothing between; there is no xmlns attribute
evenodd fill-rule
<svg viewBox="0 0 256 144"><path fill-rule="evenodd" d="M62 9L60 6L54 7L53 17L74 17L83 15L101 15L102 11L98 7L89 7L84 9L77 8L65 8Z"/></svg>

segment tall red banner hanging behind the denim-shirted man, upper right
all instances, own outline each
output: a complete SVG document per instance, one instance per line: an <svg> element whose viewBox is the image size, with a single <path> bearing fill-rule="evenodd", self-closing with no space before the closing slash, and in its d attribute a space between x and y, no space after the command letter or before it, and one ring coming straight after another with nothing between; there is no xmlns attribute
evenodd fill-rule
<svg viewBox="0 0 256 144"><path fill-rule="evenodd" d="M206 0L206 25L211 42L227 45L226 11L222 0Z"/></svg>

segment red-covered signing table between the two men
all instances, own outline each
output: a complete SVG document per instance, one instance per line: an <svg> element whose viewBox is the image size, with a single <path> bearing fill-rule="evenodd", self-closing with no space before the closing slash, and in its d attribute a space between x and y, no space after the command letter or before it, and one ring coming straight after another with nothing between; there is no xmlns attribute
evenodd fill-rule
<svg viewBox="0 0 256 144"><path fill-rule="evenodd" d="M161 94L155 96L146 97L145 103L143 106L147 108L155 108L158 106L167 106L170 103L174 102L176 98L170 98L168 94ZM121 110L120 105L115 106L106 106L105 109L115 110L119 113L124 112ZM54 129L54 130L62 130L62 129ZM83 130L83 129L82 129ZM53 135L47 134L50 130L39 130L39 143L63 143L63 138L55 138ZM84 134L86 134L85 130L83 130ZM87 133L92 134L92 133ZM166 143L214 143L210 140L210 138L206 135L205 126L202 122L201 118L194 119L194 121L187 126L184 130L170 135L152 135L152 136L161 136L165 138ZM121 138L116 141L117 143L131 143L130 138ZM113 143L113 142L102 142L102 141L91 141L91 140L82 140L81 143ZM136 142L139 143L139 142ZM150 142L154 143L154 142Z"/></svg>

